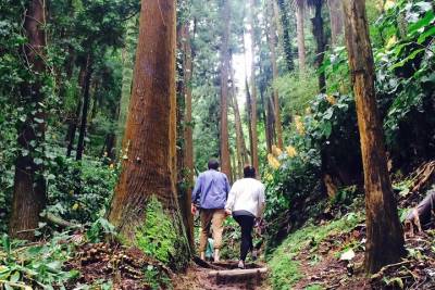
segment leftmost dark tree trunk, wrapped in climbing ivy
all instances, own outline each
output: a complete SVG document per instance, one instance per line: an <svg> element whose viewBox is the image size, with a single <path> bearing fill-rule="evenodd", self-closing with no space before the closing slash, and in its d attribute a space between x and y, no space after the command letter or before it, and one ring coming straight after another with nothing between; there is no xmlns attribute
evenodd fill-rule
<svg viewBox="0 0 435 290"><path fill-rule="evenodd" d="M45 106L41 86L46 73L45 55L46 25L45 1L28 1L24 30L28 42L24 46L24 53L29 64L27 67L34 73L35 81L23 85L22 102L30 111L36 104L36 114L30 112L26 121L18 128L18 146L22 151L15 162L14 190L12 197L12 215L9 232L14 238L34 239L34 229L38 227L39 214L46 206L46 181L44 179L42 157L36 149L41 149L46 131ZM39 153L40 154L40 153Z"/></svg>

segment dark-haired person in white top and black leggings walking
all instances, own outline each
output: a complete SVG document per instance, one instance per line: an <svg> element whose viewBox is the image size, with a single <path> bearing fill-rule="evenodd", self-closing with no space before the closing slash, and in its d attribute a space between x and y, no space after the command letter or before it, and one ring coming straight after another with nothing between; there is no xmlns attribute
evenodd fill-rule
<svg viewBox="0 0 435 290"><path fill-rule="evenodd" d="M256 179L256 168L248 165L244 168L244 178L234 182L225 204L226 213L241 227L239 268L245 268L246 256L253 251L252 228L263 214L264 189L264 185ZM256 257L253 252L252 255Z"/></svg>

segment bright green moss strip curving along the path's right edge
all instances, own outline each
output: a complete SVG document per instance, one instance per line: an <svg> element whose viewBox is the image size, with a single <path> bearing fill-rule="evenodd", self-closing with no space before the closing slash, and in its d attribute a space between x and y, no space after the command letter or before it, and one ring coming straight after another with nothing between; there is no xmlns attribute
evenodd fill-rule
<svg viewBox="0 0 435 290"><path fill-rule="evenodd" d="M308 224L290 234L268 257L268 265L271 269L270 281L273 289L293 289L299 279L303 277L303 273L300 269L300 262L297 260L301 250L311 245L312 251L315 252L318 244L322 240L331 235L348 232L361 220L362 214L350 213L340 219L332 220L322 226Z"/></svg>

